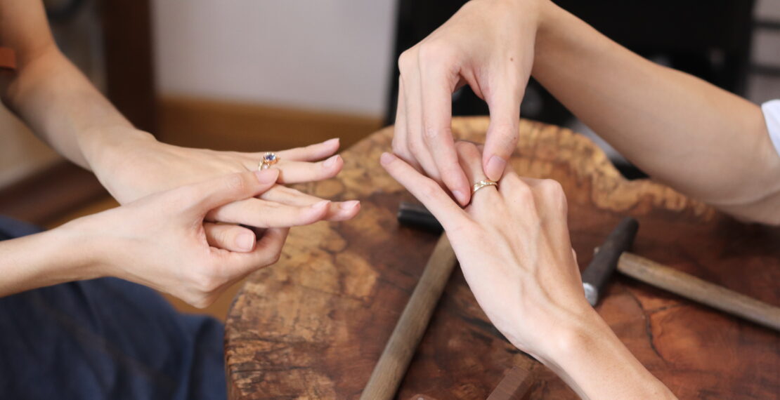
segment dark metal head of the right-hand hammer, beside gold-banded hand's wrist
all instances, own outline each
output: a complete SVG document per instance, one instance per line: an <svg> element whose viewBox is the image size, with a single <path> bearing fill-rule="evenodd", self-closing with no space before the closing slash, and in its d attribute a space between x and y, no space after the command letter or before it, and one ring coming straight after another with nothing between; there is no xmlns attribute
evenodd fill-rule
<svg viewBox="0 0 780 400"><path fill-rule="evenodd" d="M585 268L583 272L583 289L585 289L585 298L591 306L596 306L602 289L605 288L609 277L615 272L618 266L620 254L623 251L629 251L636 237L636 230L639 230L639 223L636 219L627 216L618 226L609 233L604 244L598 247L593 261Z"/></svg>

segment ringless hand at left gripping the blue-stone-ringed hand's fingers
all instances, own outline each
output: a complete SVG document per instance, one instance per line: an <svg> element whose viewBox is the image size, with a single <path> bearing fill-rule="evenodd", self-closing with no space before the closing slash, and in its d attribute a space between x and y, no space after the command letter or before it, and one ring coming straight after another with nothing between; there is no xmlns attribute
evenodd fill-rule
<svg viewBox="0 0 780 400"><path fill-rule="evenodd" d="M287 228L265 230L246 252L209 246L211 209L253 198L275 184L278 170L229 174L163 191L128 205L76 219L58 229L95 254L92 276L116 276L206 307L233 282L278 260ZM322 215L327 202L307 209ZM280 221L284 223L284 221ZM289 221L293 224L294 221ZM254 244L254 235L252 237Z"/></svg>

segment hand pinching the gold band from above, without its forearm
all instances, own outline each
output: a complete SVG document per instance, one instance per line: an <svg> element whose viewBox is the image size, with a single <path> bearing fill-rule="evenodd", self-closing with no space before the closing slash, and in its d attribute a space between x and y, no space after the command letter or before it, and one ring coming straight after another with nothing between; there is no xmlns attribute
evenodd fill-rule
<svg viewBox="0 0 780 400"><path fill-rule="evenodd" d="M487 101L491 123L481 165L497 181L518 139L537 15L534 0L473 0L399 58L393 151L443 182L461 205L469 202L470 186L452 142L452 93L468 84Z"/></svg>

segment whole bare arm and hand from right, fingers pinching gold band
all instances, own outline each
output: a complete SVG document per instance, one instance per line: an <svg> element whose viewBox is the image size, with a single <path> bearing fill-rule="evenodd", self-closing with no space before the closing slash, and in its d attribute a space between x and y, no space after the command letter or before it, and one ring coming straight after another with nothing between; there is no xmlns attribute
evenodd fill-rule
<svg viewBox="0 0 780 400"><path fill-rule="evenodd" d="M739 218L780 224L780 156L759 107L633 54L549 0L471 0L399 67L393 149L461 204L468 196L455 193L463 172L451 149L450 93L467 84L488 102L483 169L495 180L534 75L655 179Z"/></svg>

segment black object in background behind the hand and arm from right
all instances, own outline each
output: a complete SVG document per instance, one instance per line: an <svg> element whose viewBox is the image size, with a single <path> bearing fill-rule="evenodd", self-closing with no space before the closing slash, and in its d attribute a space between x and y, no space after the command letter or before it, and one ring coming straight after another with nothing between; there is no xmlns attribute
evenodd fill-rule
<svg viewBox="0 0 780 400"><path fill-rule="evenodd" d="M745 93L755 0L554 1L645 58L698 76L729 92ZM386 125L395 120L398 100L399 70L395 61L465 3L399 0ZM573 120L573 115L533 78L520 109L523 118L548 124L568 125ZM487 115L488 105L464 87L452 96L452 114ZM646 177L633 166L618 167L626 177Z"/></svg>

